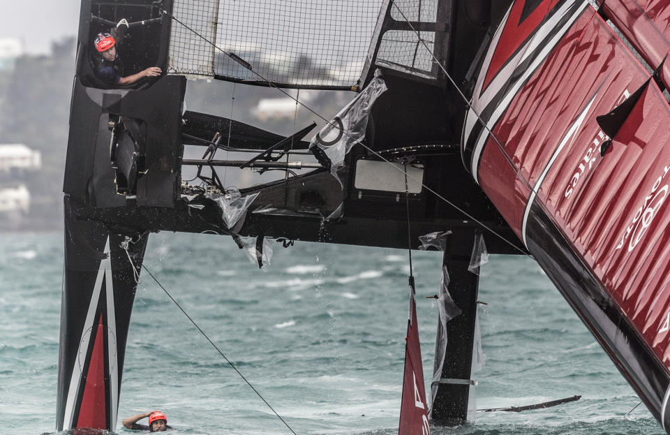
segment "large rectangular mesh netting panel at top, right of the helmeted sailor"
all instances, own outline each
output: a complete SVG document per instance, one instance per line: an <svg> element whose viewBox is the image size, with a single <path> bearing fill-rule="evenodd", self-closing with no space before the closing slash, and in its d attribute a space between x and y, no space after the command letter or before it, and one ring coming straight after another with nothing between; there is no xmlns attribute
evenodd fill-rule
<svg viewBox="0 0 670 435"><path fill-rule="evenodd" d="M177 0L170 72L250 83L267 79L288 87L350 88L361 76L382 3ZM230 52L252 71L225 54Z"/></svg>

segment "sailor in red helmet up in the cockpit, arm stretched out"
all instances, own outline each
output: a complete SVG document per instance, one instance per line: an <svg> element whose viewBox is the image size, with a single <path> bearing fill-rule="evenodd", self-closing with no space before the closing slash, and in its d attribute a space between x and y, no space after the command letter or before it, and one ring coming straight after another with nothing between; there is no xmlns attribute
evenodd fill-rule
<svg viewBox="0 0 670 435"><path fill-rule="evenodd" d="M91 56L91 68L97 78L111 86L128 86L142 78L161 75L161 68L150 66L139 73L123 76L124 64L117 52L117 45L121 44L127 30L128 22L121 20L110 33L100 33L94 40L97 52Z"/></svg>

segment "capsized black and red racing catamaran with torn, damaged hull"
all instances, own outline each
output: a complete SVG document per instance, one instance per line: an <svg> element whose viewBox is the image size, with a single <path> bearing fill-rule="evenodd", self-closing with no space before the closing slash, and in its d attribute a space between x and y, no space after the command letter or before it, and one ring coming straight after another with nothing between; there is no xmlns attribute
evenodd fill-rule
<svg viewBox="0 0 670 435"><path fill-rule="evenodd" d="M82 0L57 429L116 427L133 299L159 230L230 236L260 267L271 240L407 249L409 234L440 234L433 424L469 418L473 246L532 253L667 427L667 3ZM128 73L167 73L126 88L98 78L92 41L121 20ZM187 77L357 96L332 120L291 97L326 124L311 141L314 124L278 135L235 119L232 102L230 117L185 111ZM185 147L205 151L184 158ZM193 167L199 184L182 177ZM221 167L250 187L230 188ZM256 178L267 170L283 177Z"/></svg>

